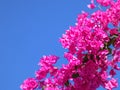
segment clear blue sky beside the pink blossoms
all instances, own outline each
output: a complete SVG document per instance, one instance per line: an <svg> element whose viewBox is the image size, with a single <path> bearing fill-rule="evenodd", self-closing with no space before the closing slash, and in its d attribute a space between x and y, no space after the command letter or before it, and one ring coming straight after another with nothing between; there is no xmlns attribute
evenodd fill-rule
<svg viewBox="0 0 120 90"><path fill-rule="evenodd" d="M89 11L88 1L0 0L0 90L20 90L43 55L56 54L58 65L65 63L58 40L81 10Z"/></svg>

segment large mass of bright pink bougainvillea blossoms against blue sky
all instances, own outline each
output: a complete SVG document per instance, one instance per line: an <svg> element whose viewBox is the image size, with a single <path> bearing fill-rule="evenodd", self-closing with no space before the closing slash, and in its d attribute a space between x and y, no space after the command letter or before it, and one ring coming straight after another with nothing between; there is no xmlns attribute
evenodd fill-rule
<svg viewBox="0 0 120 90"><path fill-rule="evenodd" d="M96 8L91 0L90 9ZM55 55L43 56L35 79L28 78L22 90L96 90L100 86L112 90L118 86L116 70L120 70L120 0L96 0L106 10L92 14L82 12L76 25L60 38L68 49L68 64L54 66ZM112 25L112 26L111 26Z"/></svg>

